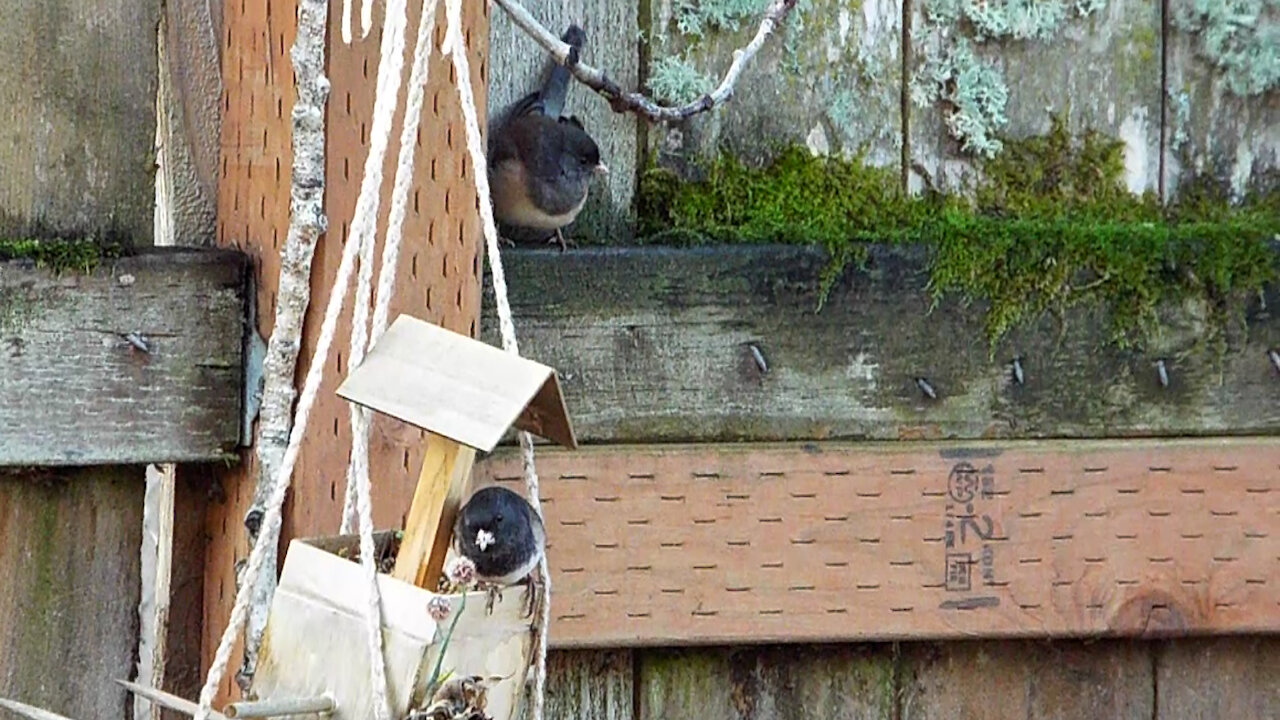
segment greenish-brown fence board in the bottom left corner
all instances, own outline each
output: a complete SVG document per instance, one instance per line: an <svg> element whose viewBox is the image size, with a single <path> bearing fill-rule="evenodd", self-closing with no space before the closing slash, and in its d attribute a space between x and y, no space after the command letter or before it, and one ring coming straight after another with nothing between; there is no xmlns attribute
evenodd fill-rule
<svg viewBox="0 0 1280 720"><path fill-rule="evenodd" d="M0 473L0 697L127 717L142 468Z"/></svg>

